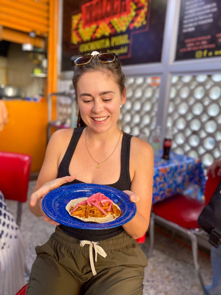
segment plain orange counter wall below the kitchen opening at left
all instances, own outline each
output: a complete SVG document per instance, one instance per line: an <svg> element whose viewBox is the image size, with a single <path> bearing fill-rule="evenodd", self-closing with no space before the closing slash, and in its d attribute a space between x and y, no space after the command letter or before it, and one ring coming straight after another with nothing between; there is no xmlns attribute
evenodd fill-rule
<svg viewBox="0 0 221 295"><path fill-rule="evenodd" d="M47 146L46 101L5 101L9 122L0 132L0 150L32 155L31 172L39 172Z"/></svg>

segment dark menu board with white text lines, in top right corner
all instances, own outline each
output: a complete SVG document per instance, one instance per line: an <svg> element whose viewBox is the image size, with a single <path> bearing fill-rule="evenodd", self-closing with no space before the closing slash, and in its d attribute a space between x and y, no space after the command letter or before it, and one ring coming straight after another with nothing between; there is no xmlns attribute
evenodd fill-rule
<svg viewBox="0 0 221 295"><path fill-rule="evenodd" d="M175 60L221 56L221 0L182 0Z"/></svg>

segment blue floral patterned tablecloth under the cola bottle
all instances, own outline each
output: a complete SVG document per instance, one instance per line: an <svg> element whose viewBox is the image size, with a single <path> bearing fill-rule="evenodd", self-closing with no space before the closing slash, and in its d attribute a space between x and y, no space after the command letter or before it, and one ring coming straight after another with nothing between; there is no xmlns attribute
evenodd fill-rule
<svg viewBox="0 0 221 295"><path fill-rule="evenodd" d="M203 200L205 182L199 159L173 152L169 160L161 159L161 153L154 156L153 203L177 193Z"/></svg>

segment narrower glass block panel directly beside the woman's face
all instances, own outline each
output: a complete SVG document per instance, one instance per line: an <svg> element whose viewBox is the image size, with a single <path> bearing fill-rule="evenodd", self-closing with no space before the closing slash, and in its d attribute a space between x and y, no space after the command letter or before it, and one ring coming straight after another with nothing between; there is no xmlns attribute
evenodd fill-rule
<svg viewBox="0 0 221 295"><path fill-rule="evenodd" d="M124 132L147 137L155 128L160 77L131 77L125 81L127 100L121 107L119 127Z"/></svg>

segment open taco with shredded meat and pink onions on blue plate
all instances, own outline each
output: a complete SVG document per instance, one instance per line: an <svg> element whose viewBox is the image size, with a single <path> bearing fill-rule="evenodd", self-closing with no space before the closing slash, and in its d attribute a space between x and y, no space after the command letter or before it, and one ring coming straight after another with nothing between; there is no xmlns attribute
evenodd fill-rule
<svg viewBox="0 0 221 295"><path fill-rule="evenodd" d="M122 215L120 207L102 193L73 199L65 209L72 217L87 222L105 223Z"/></svg>

